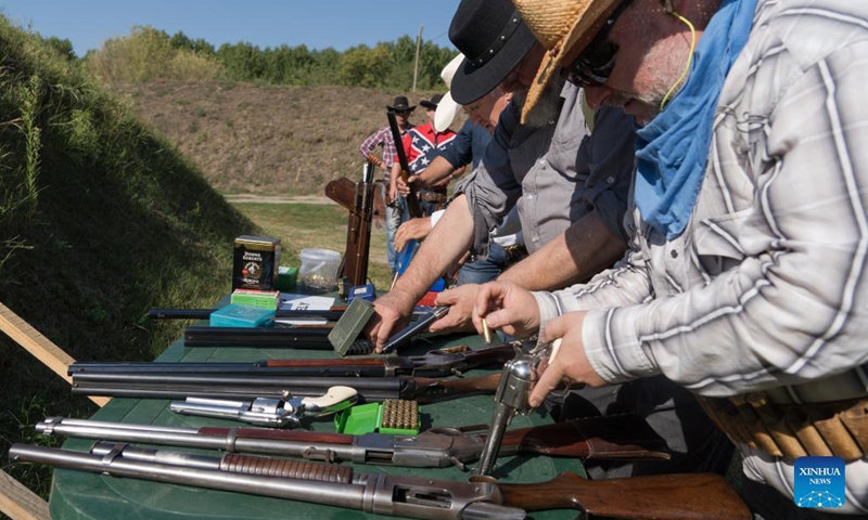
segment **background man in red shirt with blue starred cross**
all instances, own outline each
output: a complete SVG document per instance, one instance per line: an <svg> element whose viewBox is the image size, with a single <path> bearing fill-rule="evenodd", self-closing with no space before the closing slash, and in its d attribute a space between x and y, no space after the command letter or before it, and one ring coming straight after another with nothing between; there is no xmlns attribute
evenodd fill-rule
<svg viewBox="0 0 868 520"><path fill-rule="evenodd" d="M437 105L443 99L442 94L434 94L430 100L422 100L419 102L425 108L425 116L427 121L424 125L412 128L404 135L404 151L407 154L407 164L410 168L411 176L418 176L434 160L434 158L443 151L452 145L456 133L446 129L438 132L434 128L434 116L437 113ZM392 177L390 184L390 195L398 195L397 180L400 177L400 165L397 162L392 165ZM422 209L422 216L427 217L437 209L446 205L446 185L445 183L435 184L424 187L419 191L419 207ZM407 216L409 220L409 216Z"/></svg>

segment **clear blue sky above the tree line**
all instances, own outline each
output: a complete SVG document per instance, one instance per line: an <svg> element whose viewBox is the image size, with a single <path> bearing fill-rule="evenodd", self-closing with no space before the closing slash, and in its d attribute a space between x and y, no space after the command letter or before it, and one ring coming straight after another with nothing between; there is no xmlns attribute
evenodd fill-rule
<svg viewBox="0 0 868 520"><path fill-rule="evenodd" d="M451 48L447 31L459 0L3 0L2 13L43 37L68 39L78 56L136 25L183 31L215 48L306 44L343 51L359 43L422 37Z"/></svg>

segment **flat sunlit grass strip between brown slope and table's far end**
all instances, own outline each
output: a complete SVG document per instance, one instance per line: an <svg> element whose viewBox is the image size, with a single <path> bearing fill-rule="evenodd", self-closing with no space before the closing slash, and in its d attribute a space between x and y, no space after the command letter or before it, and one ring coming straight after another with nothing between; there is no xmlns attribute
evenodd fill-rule
<svg viewBox="0 0 868 520"><path fill-rule="evenodd" d="M346 247L348 211L336 204L234 203L232 206L255 222L267 236L281 239L282 265L301 265L298 253L305 248L332 249L343 253ZM386 289L392 283L386 265L386 234L376 227L371 231L368 277L378 289Z"/></svg>

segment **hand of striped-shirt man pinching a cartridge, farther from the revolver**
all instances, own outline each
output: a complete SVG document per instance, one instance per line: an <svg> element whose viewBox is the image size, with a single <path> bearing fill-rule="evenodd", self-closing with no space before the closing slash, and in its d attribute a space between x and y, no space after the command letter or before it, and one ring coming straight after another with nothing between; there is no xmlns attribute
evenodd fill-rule
<svg viewBox="0 0 868 520"><path fill-rule="evenodd" d="M482 334L482 318L489 328L526 338L539 328L536 298L512 282L490 282L480 287L473 309L473 325Z"/></svg>

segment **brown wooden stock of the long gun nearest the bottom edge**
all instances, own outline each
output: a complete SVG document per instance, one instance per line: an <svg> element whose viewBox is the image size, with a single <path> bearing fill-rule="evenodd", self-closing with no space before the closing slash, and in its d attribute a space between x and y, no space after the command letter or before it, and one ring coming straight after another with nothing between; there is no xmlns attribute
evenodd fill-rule
<svg viewBox="0 0 868 520"><path fill-rule="evenodd" d="M497 486L503 505L527 511L576 508L589 515L635 520L751 519L736 491L714 473L612 480L561 473L548 482Z"/></svg>

